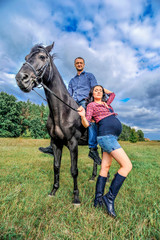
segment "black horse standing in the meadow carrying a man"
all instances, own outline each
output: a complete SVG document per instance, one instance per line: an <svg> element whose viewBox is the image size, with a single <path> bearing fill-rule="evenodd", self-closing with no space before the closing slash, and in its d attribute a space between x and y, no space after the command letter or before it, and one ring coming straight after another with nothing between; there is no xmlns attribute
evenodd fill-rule
<svg viewBox="0 0 160 240"><path fill-rule="evenodd" d="M35 45L25 57L26 62L17 73L16 81L24 92L30 92L39 84L44 87L50 110L47 128L54 152L54 184L50 195L55 195L59 188L61 155L62 148L65 145L71 156L71 175L74 180L73 203L80 204L77 185L78 141L85 129L76 111L78 104L69 95L62 77L53 63L53 57L50 55L53 46L54 43L47 47ZM56 96L53 95L54 93L56 93ZM93 176L96 175L96 172L97 165L94 164Z"/></svg>

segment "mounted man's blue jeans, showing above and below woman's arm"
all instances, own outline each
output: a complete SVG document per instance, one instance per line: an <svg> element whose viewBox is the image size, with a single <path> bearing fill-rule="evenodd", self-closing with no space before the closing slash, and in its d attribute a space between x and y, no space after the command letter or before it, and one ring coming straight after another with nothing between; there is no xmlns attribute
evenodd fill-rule
<svg viewBox="0 0 160 240"><path fill-rule="evenodd" d="M86 109L86 101L84 99L81 101L77 101L77 103ZM88 127L88 135L89 148L97 149L97 124L95 122L92 122L91 125Z"/></svg>

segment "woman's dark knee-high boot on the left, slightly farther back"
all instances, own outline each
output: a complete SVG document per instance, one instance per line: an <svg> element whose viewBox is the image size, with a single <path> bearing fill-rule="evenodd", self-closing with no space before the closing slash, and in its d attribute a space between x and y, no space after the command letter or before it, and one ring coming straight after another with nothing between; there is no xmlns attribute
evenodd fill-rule
<svg viewBox="0 0 160 240"><path fill-rule="evenodd" d="M104 194L104 188L106 185L107 177L98 176L97 183L96 183L96 193L94 199L94 207L102 207L102 196Z"/></svg>

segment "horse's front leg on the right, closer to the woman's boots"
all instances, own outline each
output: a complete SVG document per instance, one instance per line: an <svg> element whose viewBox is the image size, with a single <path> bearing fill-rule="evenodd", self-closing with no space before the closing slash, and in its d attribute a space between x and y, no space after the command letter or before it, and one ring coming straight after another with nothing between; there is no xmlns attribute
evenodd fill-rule
<svg viewBox="0 0 160 240"><path fill-rule="evenodd" d="M78 167L77 167L77 162L78 162L78 142L76 139L71 139L69 144L68 144L69 150L70 150L70 156L71 156L71 175L73 177L73 182L74 182L74 199L73 199L73 204L80 204L79 200L79 190L78 190L78 184L77 184L77 177L78 177Z"/></svg>

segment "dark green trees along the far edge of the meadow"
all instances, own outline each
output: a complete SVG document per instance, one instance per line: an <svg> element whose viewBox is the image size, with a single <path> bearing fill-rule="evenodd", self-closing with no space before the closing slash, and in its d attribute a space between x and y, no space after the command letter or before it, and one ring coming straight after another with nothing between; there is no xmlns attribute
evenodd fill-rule
<svg viewBox="0 0 160 240"><path fill-rule="evenodd" d="M48 106L17 101L16 97L5 92L0 93L0 137L49 138L46 122ZM119 136L122 141L144 141L141 130L122 124Z"/></svg>

